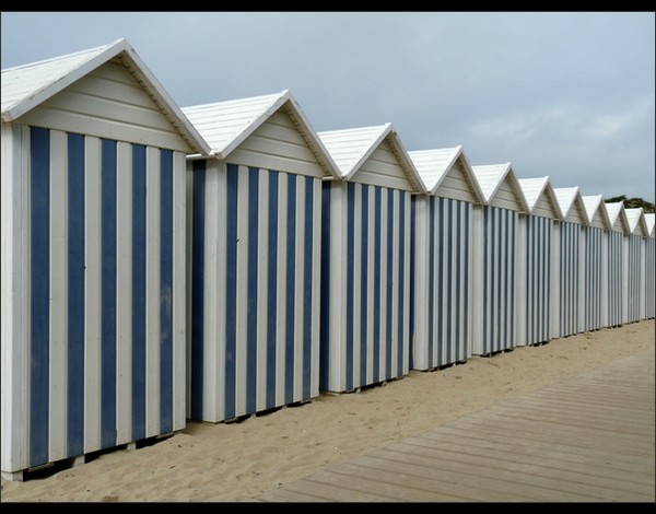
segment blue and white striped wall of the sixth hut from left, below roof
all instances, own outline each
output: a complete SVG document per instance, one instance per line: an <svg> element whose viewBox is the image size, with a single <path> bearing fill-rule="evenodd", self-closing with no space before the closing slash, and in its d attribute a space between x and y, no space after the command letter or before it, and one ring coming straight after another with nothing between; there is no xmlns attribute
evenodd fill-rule
<svg viewBox="0 0 656 514"><path fill-rule="evenodd" d="M553 220L519 217L517 346L551 339L551 245Z"/></svg>

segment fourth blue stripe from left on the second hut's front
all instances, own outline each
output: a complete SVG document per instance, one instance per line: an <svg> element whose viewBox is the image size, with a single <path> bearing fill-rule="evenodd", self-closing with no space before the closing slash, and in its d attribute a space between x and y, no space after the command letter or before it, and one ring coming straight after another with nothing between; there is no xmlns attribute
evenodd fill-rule
<svg viewBox="0 0 656 514"><path fill-rule="evenodd" d="M289 174L288 184L284 399L286 404L291 404L294 400L294 319L296 318L296 175Z"/></svg>

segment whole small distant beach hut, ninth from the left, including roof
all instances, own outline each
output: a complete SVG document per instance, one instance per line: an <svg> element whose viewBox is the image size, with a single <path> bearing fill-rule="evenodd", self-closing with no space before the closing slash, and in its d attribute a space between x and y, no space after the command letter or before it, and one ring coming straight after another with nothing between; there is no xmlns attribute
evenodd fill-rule
<svg viewBox="0 0 656 514"><path fill-rule="evenodd" d="M626 257L624 256L624 234L629 233L629 220L624 212L624 205L619 202L606 203L606 212L610 223L610 230L606 233L606 246L608 265L606 267L608 295L607 301L607 325L619 327L624 322L624 283L626 282Z"/></svg>

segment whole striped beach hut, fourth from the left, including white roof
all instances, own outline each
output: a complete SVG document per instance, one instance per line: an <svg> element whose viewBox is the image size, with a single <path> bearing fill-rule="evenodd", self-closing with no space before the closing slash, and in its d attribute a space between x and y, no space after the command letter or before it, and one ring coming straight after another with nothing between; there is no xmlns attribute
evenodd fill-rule
<svg viewBox="0 0 656 514"><path fill-rule="evenodd" d="M427 191L412 196L410 369L466 361L471 350L472 206L483 194L462 147L408 152Z"/></svg>

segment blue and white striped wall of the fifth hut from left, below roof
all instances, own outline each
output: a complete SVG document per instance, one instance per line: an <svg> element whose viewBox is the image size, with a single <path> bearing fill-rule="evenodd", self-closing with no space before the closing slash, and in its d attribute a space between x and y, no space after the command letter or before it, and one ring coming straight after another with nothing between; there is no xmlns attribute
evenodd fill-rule
<svg viewBox="0 0 656 514"><path fill-rule="evenodd" d="M473 208L473 355L489 355L517 343L517 211Z"/></svg>

